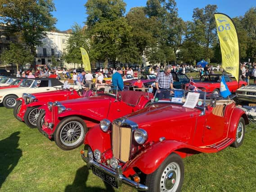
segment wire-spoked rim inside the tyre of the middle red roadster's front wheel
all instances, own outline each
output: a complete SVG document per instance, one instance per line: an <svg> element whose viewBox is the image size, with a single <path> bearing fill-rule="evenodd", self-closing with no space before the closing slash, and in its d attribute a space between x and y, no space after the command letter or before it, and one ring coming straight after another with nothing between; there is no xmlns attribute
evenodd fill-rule
<svg viewBox="0 0 256 192"><path fill-rule="evenodd" d="M80 122L70 121L60 131L60 140L66 146L76 145L84 136L84 128Z"/></svg>

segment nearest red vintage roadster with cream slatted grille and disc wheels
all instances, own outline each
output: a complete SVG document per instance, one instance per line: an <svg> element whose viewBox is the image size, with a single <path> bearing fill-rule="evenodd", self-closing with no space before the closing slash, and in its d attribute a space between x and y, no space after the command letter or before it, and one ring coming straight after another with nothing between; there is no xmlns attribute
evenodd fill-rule
<svg viewBox="0 0 256 192"><path fill-rule="evenodd" d="M93 174L117 188L176 192L184 181L182 158L243 143L248 118L233 100L205 92L158 100L161 92L150 106L88 131L81 157Z"/></svg>

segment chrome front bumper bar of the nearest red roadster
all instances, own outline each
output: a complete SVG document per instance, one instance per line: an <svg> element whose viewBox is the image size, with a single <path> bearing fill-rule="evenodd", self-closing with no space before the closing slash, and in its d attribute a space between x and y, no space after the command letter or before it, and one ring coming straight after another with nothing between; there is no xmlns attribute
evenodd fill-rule
<svg viewBox="0 0 256 192"><path fill-rule="evenodd" d="M126 183L127 185L130 185L139 191L147 191L148 190L147 186L145 186L143 184L136 183L135 181L132 181L130 179L127 179L122 174L122 169L121 169L120 165L117 167L116 171L113 171L113 170L109 169L108 167L105 167L105 166L99 164L97 161L94 161L92 152L88 152L87 156L88 157L86 157L84 154L81 155L82 159L86 162L88 169L91 169L92 167L96 167L97 169L103 171L104 173L111 175L112 177L114 177L116 179L118 187L120 187L122 183Z"/></svg>

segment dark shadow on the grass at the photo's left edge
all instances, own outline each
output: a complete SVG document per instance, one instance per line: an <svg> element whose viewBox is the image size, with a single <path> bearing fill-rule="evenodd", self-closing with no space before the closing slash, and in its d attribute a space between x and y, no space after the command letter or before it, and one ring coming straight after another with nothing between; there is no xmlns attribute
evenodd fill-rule
<svg viewBox="0 0 256 192"><path fill-rule="evenodd" d="M19 131L0 141L0 188L22 156L18 149Z"/></svg>

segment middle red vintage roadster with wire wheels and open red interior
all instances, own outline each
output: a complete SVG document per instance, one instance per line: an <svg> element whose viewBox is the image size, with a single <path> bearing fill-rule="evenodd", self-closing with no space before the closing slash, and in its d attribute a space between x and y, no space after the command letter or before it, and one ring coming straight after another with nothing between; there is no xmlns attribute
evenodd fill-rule
<svg viewBox="0 0 256 192"><path fill-rule="evenodd" d="M92 97L49 102L47 106L40 107L45 113L38 117L39 131L49 139L54 138L63 150L74 149L83 143L87 128L104 118L113 120L138 111L150 104L153 98L153 94L138 91L110 94L109 85L101 86L104 89L99 89L100 92L97 91Z"/></svg>

